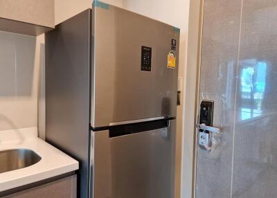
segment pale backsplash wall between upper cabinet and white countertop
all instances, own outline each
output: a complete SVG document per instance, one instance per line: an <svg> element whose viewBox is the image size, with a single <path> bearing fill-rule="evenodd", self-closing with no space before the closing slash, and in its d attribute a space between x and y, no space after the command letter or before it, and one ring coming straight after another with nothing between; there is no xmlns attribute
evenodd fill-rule
<svg viewBox="0 0 277 198"><path fill-rule="evenodd" d="M37 127L40 43L0 32L0 131Z"/></svg>

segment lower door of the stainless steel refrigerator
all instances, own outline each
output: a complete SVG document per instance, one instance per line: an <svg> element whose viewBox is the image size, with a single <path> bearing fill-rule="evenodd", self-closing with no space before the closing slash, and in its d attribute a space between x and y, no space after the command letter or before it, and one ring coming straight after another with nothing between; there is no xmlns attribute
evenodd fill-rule
<svg viewBox="0 0 277 198"><path fill-rule="evenodd" d="M136 134L92 134L91 197L174 197L175 120Z"/></svg>

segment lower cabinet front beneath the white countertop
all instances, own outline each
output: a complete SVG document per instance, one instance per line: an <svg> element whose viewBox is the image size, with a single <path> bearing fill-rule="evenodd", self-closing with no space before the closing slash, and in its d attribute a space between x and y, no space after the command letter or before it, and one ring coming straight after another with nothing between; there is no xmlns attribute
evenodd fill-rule
<svg viewBox="0 0 277 198"><path fill-rule="evenodd" d="M3 198L76 198L77 175L23 190Z"/></svg>

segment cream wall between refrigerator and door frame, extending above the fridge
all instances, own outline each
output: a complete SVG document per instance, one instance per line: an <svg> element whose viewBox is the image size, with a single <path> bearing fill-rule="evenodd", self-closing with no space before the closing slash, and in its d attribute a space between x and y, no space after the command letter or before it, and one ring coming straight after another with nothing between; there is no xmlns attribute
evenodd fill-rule
<svg viewBox="0 0 277 198"><path fill-rule="evenodd" d="M181 29L180 51L179 51L179 78L183 78L186 71L186 48L188 35L188 12L190 0L123 0L123 8L145 15L152 19L163 21L166 24L176 26ZM184 91L182 91L184 93ZM180 197L181 188L181 152L184 131L184 102L177 107L177 137L176 137L176 198Z"/></svg>

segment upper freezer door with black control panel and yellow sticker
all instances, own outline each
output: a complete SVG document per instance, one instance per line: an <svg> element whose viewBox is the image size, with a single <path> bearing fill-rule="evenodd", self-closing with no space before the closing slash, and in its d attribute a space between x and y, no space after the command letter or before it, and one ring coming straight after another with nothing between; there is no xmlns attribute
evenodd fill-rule
<svg viewBox="0 0 277 198"><path fill-rule="evenodd" d="M114 6L93 17L91 125L175 117L179 29Z"/></svg>

